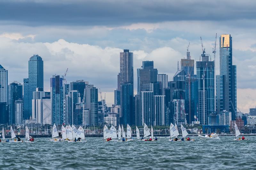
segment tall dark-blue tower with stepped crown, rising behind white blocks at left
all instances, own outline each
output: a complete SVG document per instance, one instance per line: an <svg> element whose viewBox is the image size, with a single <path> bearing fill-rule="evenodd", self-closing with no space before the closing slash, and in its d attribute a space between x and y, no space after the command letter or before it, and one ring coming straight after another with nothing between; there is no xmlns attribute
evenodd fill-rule
<svg viewBox="0 0 256 170"><path fill-rule="evenodd" d="M36 88L41 88L44 91L44 62L39 55L33 55L28 61L28 103L29 112L24 113L24 119L29 119L32 116L32 99L33 92ZM26 111L26 109L25 109Z"/></svg>

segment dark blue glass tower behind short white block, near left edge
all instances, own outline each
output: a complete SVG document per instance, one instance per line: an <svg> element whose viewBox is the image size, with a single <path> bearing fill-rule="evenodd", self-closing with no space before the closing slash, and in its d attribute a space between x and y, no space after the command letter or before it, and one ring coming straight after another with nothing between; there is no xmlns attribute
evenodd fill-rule
<svg viewBox="0 0 256 170"><path fill-rule="evenodd" d="M9 106L9 123L15 123L15 101L22 100L22 85L18 82L13 82L8 85L8 104Z"/></svg>

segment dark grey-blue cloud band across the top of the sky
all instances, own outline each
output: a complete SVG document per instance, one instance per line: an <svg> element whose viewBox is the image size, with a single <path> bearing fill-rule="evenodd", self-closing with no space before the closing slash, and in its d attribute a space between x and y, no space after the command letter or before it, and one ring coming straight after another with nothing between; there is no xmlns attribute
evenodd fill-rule
<svg viewBox="0 0 256 170"><path fill-rule="evenodd" d="M255 1L1 1L2 24L129 25L255 19Z"/></svg>

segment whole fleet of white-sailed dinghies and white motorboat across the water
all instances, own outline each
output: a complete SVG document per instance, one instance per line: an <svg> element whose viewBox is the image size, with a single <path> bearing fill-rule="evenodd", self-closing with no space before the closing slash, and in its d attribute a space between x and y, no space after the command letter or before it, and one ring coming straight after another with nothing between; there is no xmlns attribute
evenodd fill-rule
<svg viewBox="0 0 256 170"><path fill-rule="evenodd" d="M186 128L184 128L184 126L182 124L180 124L180 129L181 129L181 133L182 133L182 139L178 139L177 137L180 135L179 131L178 131L178 127L176 125L176 123L174 123L175 125L173 125L171 123L170 125L170 139L169 141L195 141L195 139L190 139L188 136L188 132L186 130ZM31 138L29 136L29 129L26 126L25 127L25 140L20 140L20 137L18 137L18 140L15 138L16 135L14 133L14 130L12 129L12 126L10 126L10 132L11 132L11 140L7 139L7 141L2 141L2 142L10 142L10 143L20 143L20 142L27 142L27 143L33 143L31 141ZM78 129L76 129L76 127L74 125L70 126L70 125L66 125L66 127L64 127L63 125L61 126L61 133L58 133L58 129L56 127L56 125L54 124L52 127L52 138L50 139L51 142L63 142L63 141L67 141L67 142L86 142L85 140L85 134L84 134L84 129L79 126ZM240 136L241 133L235 123L235 141L241 141L241 140L247 140L244 138L244 136L242 137L242 139L238 136ZM0 134L1 137L1 134ZM187 137L186 139L184 139L185 137ZM200 139L206 139L206 140L220 140L219 135L216 133L211 133L210 135L198 135L198 137ZM4 136L4 127L2 129L2 138L3 140L5 139ZM148 128L148 126L146 125L146 123L144 123L143 126L143 137L140 138L140 130L139 128L136 126L136 138L138 140L141 141L156 141L157 138L154 139L154 130L153 127L151 125L151 129ZM105 125L103 128L103 141L123 141L123 142L129 142L129 141L133 141L134 138L132 137L132 129L130 127L129 124L127 124L127 131L125 134L124 131L124 127L122 125L122 128L120 126L120 124L118 125L118 130L116 130L116 128L112 125L110 127L110 129L108 129L108 127ZM33 140L34 141L34 140Z"/></svg>

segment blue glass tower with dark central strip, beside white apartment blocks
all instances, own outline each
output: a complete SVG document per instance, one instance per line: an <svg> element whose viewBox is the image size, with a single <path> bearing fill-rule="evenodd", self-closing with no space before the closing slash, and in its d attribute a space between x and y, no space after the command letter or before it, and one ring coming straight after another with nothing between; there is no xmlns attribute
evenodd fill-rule
<svg viewBox="0 0 256 170"><path fill-rule="evenodd" d="M52 123L59 125L64 122L62 78L60 78L60 75L53 75L50 82L52 99Z"/></svg>

